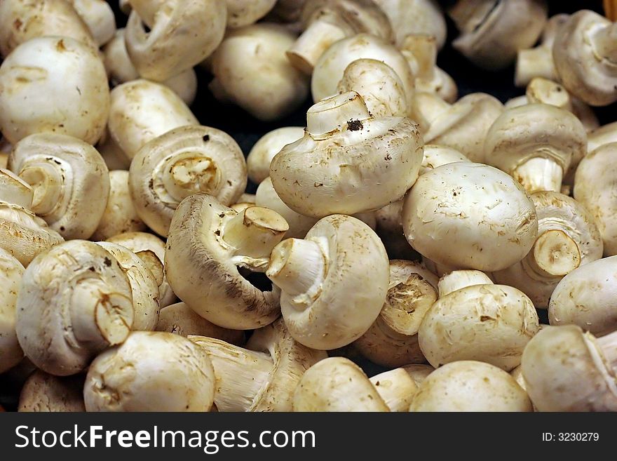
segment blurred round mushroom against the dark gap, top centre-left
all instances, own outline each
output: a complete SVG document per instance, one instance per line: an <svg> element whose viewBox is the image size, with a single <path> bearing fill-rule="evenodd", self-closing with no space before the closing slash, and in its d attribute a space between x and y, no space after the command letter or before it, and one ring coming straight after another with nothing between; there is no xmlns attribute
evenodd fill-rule
<svg viewBox="0 0 617 461"><path fill-rule="evenodd" d="M232 29L212 55L210 91L262 121L292 113L308 93L307 77L285 56L294 37L268 22Z"/></svg>

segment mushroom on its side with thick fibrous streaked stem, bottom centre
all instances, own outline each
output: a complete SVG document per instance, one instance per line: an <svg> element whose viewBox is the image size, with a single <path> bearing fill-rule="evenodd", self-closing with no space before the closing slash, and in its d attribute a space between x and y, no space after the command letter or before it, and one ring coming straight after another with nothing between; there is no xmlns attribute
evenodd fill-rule
<svg viewBox="0 0 617 461"><path fill-rule="evenodd" d="M255 330L246 348L189 336L208 353L219 411L291 411L304 372L327 355L292 338L282 319Z"/></svg>

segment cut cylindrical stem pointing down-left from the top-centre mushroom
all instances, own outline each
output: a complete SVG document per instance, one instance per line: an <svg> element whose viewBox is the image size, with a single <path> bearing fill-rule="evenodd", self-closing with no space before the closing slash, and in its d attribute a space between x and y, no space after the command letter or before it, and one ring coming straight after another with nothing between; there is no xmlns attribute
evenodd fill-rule
<svg viewBox="0 0 617 461"><path fill-rule="evenodd" d="M332 22L313 21L287 51L287 59L301 72L311 75L320 56L345 37L345 31Z"/></svg>

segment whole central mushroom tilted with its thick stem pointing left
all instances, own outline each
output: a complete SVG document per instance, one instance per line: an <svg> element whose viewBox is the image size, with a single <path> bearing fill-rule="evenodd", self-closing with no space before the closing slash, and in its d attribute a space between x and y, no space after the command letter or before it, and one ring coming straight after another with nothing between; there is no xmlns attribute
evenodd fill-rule
<svg viewBox="0 0 617 461"><path fill-rule="evenodd" d="M330 215L304 240L279 243L266 275L282 291L280 309L293 338L313 349L336 349L360 338L379 316L388 255L363 222Z"/></svg>

